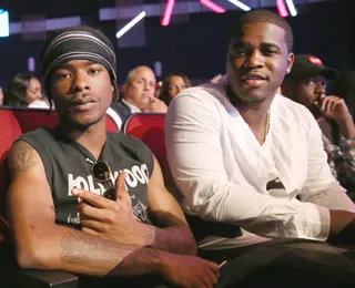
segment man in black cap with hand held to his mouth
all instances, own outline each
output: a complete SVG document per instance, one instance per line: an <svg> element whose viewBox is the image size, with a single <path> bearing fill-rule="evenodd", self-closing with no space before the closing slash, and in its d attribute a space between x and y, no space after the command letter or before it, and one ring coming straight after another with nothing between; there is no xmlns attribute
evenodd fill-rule
<svg viewBox="0 0 355 288"><path fill-rule="evenodd" d="M332 174L355 192L355 126L344 99L327 95L328 81L336 70L323 65L314 55L296 55L282 94L306 106L317 120ZM352 192L348 192L349 194Z"/></svg>

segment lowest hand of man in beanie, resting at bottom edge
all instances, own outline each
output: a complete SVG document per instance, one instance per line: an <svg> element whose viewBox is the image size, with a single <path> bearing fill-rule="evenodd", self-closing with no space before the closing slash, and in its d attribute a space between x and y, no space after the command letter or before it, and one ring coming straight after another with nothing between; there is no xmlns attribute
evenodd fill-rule
<svg viewBox="0 0 355 288"><path fill-rule="evenodd" d="M174 287L213 288L220 277L219 265L195 256L169 254L163 263L161 277Z"/></svg>

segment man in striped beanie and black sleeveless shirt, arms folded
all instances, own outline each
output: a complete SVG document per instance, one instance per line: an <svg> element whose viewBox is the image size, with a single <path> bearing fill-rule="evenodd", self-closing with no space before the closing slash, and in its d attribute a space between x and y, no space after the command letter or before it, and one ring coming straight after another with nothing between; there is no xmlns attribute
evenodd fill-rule
<svg viewBox="0 0 355 288"><path fill-rule="evenodd" d="M155 157L140 141L106 132L116 91L112 43L92 28L67 28L47 40L41 62L59 125L22 135L9 155L19 265L109 276L99 281L115 287L216 284L219 266L194 256L193 236ZM108 189L110 198L102 197Z"/></svg>

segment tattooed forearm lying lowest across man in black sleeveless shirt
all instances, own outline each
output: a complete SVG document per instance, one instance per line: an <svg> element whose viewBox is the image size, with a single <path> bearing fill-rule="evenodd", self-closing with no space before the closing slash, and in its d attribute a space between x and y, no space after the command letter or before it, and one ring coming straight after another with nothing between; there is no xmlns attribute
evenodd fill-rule
<svg viewBox="0 0 355 288"><path fill-rule="evenodd" d="M161 251L119 245L77 230L68 232L63 236L61 248L63 264L74 269L90 267L85 272L101 276L154 272L162 263Z"/></svg>

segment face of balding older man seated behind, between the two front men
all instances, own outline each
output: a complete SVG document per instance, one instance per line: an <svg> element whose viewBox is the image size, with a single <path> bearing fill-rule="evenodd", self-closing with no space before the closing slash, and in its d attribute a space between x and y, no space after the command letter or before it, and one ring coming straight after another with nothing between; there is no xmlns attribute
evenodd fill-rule
<svg viewBox="0 0 355 288"><path fill-rule="evenodd" d="M132 69L125 79L124 101L146 111L151 104L151 99L155 93L155 75L149 66L136 66Z"/></svg>

